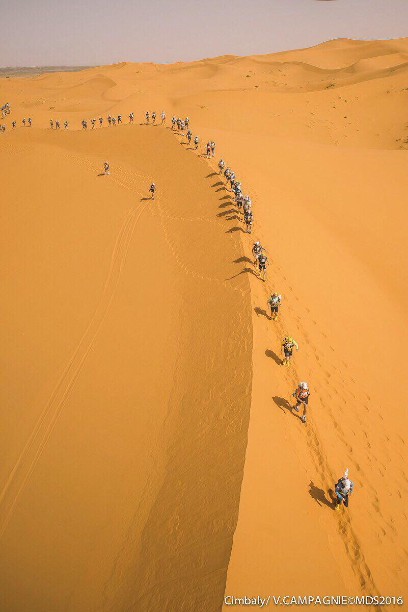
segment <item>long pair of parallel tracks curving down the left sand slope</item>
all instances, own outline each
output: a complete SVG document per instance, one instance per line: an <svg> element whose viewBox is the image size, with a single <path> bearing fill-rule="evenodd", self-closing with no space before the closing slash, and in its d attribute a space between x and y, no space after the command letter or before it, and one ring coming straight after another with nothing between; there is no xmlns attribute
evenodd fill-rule
<svg viewBox="0 0 408 612"><path fill-rule="evenodd" d="M81 163L81 158L70 156ZM93 170L92 166L81 163L82 166ZM142 193L130 185L124 186L116 181L121 187L131 190L133 193ZM137 204L128 210L123 218L117 239L111 255L111 264L104 284L97 308L90 323L79 340L75 351L70 357L62 375L51 393L48 402L43 408L40 417L34 425L23 450L20 453L12 471L9 474L4 487L0 492L0 540L13 516L15 508L21 495L29 482L35 466L45 449L46 443L53 433L57 420L64 411L71 390L81 374L82 368L97 338L98 332L103 325L114 300L123 267L126 263L131 239L140 216L147 208L148 203Z"/></svg>

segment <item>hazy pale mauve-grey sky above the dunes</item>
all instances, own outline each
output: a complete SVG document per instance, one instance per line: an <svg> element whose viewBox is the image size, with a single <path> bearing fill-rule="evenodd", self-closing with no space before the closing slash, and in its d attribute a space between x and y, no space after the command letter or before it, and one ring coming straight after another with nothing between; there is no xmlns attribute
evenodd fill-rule
<svg viewBox="0 0 408 612"><path fill-rule="evenodd" d="M408 0L1 0L0 66L189 61L408 35Z"/></svg>

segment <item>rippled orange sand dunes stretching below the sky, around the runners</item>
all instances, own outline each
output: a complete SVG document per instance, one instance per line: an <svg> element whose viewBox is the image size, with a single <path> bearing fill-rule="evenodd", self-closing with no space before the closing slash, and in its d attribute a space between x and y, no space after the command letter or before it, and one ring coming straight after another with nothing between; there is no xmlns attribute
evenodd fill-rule
<svg viewBox="0 0 408 612"><path fill-rule="evenodd" d="M406 599L408 39L8 78L0 99L2 610Z"/></svg>

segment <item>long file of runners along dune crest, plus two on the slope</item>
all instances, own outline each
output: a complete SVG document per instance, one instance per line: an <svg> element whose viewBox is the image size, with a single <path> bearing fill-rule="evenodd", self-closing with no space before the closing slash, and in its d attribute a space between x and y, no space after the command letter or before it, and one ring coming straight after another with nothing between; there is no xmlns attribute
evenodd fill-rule
<svg viewBox="0 0 408 612"><path fill-rule="evenodd" d="M3 105L1 110L2 110L2 113L7 113L7 114L10 113L10 105L8 103ZM162 111L160 116L161 116L161 125L164 125L166 122L166 113ZM151 113L151 116L148 112L145 114L145 119L146 119L145 124L146 125L150 124L150 117L151 117L151 122L154 125L156 123L156 113L154 111L153 113ZM133 124L134 123L134 113L131 112L128 118L129 118L129 124ZM103 118L100 117L99 127L103 127L103 121L104 121ZM90 122L92 125L92 129L95 129L95 119L91 119ZM22 123L23 123L23 127L25 127L26 120L23 119ZM54 127L53 119L50 119L49 123L50 123L50 127L52 130L60 129L59 120L55 121L55 127ZM120 124L122 124L122 115L118 114L117 118L112 117L110 114L107 115L107 127L114 127ZM188 117L184 119L180 119L180 118L176 119L175 116L173 115L172 120L171 120L171 129L173 130L173 132L180 133L181 136L185 135L187 142L189 146L191 147L192 132L189 129L189 124L190 124L190 120ZM12 125L13 125L13 129L16 129L15 121L13 121ZM32 125L32 121L31 121L31 118L29 118L28 126L31 127L31 125ZM64 127L65 127L65 130L68 130L67 121L64 122ZM87 121L83 119L82 120L82 130L87 130L87 127L88 127ZM0 132L5 132L5 125L2 125L2 126L0 125ZM200 143L200 138L198 135L195 135L193 139L193 143L194 143L193 150L197 151L197 149L199 148L199 143ZM202 155L206 159L213 159L215 157L215 152L216 152L216 143L214 142L214 140L211 140L211 141L208 141L208 143L206 144L205 152L200 153L200 155ZM246 226L246 232L247 234L252 234L253 212L252 212L252 203L251 203L249 195L248 194L246 194L245 196L243 195L242 188L241 188L242 187L241 181L238 181L235 171L231 170L229 166L226 167L223 159L220 159L218 162L218 171L219 171L220 176L224 176L226 185L227 187L229 185L229 188L233 194L238 218L241 219L240 215L242 212L243 223ZM111 168L110 168L109 162L104 162L103 174L105 176L110 176ZM149 188L151 200L155 199L155 189L156 189L156 185L154 182L152 182ZM258 270L258 277L261 280L263 280L263 282L266 282L266 266L269 265L269 261L268 261L268 255L267 255L266 248L264 248L263 245L260 244L260 241L255 241L252 243L252 256L253 256L253 265L255 266L255 269ZM282 295L274 291L274 293L272 293L268 299L268 308L270 308L270 311L271 311L272 321L278 320L279 308L281 306L281 303L282 303ZM294 340L294 338L291 335L286 335L283 338L283 340L280 342L280 351L282 351L284 355L282 359L282 365L285 365L285 366L291 365L291 360L293 357L294 350L299 351L299 345L297 344L296 340ZM292 408L296 412L299 412L299 409L302 409L301 420L302 420L302 423L305 424L307 408L308 408L308 399L310 397L310 389L308 387L308 384L304 381L299 383L296 389L294 390L292 397L294 398L294 405L292 406ZM335 499L336 510L340 510L341 506L348 507L349 497L351 496L353 492L353 488L354 488L353 482L349 479L348 476L349 476L349 471L348 469L346 469L343 476L341 476L340 479L338 479L338 482L335 483L333 487L335 496L336 496L336 499Z"/></svg>

